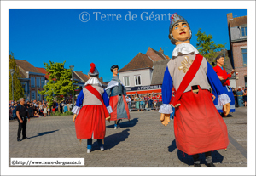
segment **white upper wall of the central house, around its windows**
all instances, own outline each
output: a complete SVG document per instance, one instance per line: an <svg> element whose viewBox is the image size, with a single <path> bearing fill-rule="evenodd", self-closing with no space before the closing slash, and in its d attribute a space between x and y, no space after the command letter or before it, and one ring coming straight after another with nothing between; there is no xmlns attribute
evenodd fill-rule
<svg viewBox="0 0 256 176"><path fill-rule="evenodd" d="M148 86L151 84L151 78L152 78L152 69L143 69L138 71L125 71L119 73L119 79L121 82L124 82L123 77L130 77L130 86L129 87L136 87L135 86L135 76L140 75L141 77L141 85L139 86Z"/></svg>

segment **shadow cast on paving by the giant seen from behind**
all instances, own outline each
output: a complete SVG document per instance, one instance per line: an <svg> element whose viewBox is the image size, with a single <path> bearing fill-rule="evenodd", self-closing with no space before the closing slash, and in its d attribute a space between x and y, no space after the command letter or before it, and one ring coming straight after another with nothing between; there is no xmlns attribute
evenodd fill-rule
<svg viewBox="0 0 256 176"><path fill-rule="evenodd" d="M105 150L113 148L115 145L118 145L121 141L125 141L125 139L128 138L128 136L130 135L130 133L128 133L129 131L130 129L125 129L122 132L107 136L104 139ZM94 150L99 149L97 142L93 143L92 148Z"/></svg>

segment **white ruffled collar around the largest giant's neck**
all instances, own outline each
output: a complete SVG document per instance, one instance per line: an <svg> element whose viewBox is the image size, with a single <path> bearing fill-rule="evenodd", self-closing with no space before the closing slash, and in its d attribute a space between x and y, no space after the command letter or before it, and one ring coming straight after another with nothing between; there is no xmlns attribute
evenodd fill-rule
<svg viewBox="0 0 256 176"><path fill-rule="evenodd" d="M194 52L194 54L198 54L198 50L190 43L181 43L178 44L172 51L172 56L177 56L178 53L182 54L190 54Z"/></svg>

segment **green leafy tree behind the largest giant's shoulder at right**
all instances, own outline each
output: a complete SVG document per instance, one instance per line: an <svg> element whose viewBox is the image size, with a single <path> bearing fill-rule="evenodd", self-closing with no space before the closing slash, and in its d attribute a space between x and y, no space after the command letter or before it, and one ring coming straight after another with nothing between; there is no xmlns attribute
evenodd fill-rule
<svg viewBox="0 0 256 176"><path fill-rule="evenodd" d="M215 58L218 55L223 55L221 50L222 48L225 47L226 43L224 44L214 43L214 41L212 41L212 38L213 38L212 35L211 34L207 35L206 32L202 33L201 28L197 31L195 36L197 36L197 42L195 44L196 44L196 48L199 51L199 54L204 56L207 59L207 61L212 66L214 66L213 64L215 63ZM225 56L224 59L226 61L229 58Z"/></svg>

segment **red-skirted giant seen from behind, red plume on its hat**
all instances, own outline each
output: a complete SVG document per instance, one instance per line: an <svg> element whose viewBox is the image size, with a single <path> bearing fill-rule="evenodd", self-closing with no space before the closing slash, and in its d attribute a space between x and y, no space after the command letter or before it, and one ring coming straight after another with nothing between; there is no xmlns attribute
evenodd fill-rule
<svg viewBox="0 0 256 176"><path fill-rule="evenodd" d="M108 94L97 79L99 72L95 64L91 63L90 66L88 73L90 79L85 82L72 110L77 138L80 140L87 139L87 153L91 151L92 139L97 139L100 149L104 150L102 139L106 133L105 121L109 121L108 113L112 113Z"/></svg>

